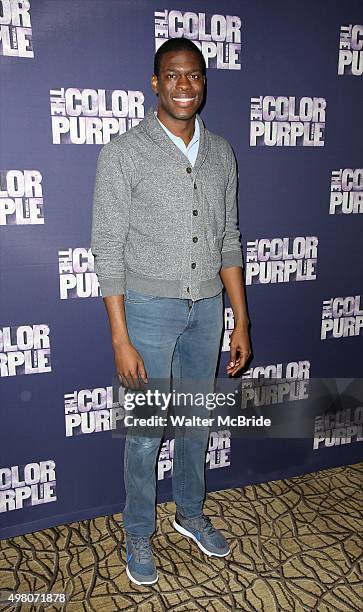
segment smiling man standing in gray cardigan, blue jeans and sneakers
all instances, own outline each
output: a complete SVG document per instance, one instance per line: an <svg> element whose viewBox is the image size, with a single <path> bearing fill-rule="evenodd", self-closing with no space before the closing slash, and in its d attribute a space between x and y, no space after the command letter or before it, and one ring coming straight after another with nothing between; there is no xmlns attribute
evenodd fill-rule
<svg viewBox="0 0 363 612"><path fill-rule="evenodd" d="M152 380L215 377L223 329L222 289L234 312L228 374L250 356L237 172L224 138L197 111L205 62L190 40L165 42L151 86L157 109L99 155L92 219L95 271L108 313L116 370L131 389ZM207 555L229 546L203 514L207 428L175 437L174 527ZM160 436L127 435L124 454L126 571L136 584L158 579L155 464Z"/></svg>

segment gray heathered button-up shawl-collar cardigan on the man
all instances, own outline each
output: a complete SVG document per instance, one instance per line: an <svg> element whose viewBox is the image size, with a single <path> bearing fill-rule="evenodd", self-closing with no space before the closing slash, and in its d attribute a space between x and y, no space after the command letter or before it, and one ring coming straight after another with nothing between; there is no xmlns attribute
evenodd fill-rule
<svg viewBox="0 0 363 612"><path fill-rule="evenodd" d="M101 293L212 297L221 266L243 267L232 148L197 115L192 167L153 111L98 157L91 250Z"/></svg>

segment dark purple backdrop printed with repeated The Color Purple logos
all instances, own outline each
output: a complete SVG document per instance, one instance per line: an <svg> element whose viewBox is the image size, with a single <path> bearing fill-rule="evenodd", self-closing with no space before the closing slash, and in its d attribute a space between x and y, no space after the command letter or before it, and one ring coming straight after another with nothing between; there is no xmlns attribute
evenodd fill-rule
<svg viewBox="0 0 363 612"><path fill-rule="evenodd" d="M155 105L168 38L202 50L201 117L238 161L244 377L265 383L250 401L298 406L297 381L312 379L345 380L349 396L363 348L362 24L359 0L0 0L1 537L123 509L92 196L101 146ZM220 377L233 327L225 298ZM362 459L362 406L314 418L310 437L212 430L208 490ZM158 501L172 464L166 437Z"/></svg>

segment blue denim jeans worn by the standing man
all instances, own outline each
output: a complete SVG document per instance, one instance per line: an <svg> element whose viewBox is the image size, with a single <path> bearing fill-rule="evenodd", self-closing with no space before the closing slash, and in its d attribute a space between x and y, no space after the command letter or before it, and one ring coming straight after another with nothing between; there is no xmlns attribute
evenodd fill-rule
<svg viewBox="0 0 363 612"><path fill-rule="evenodd" d="M149 380L163 379L170 386L172 375L177 380L198 379L198 385L204 380L210 387L223 329L222 293L193 302L126 290L125 314L130 340L144 360ZM196 427L193 435L185 435L183 427L175 429L173 497L177 510L188 518L200 515L203 508L209 429ZM155 467L161 437L162 431L160 436L126 436L123 520L131 535L151 536L155 530Z"/></svg>

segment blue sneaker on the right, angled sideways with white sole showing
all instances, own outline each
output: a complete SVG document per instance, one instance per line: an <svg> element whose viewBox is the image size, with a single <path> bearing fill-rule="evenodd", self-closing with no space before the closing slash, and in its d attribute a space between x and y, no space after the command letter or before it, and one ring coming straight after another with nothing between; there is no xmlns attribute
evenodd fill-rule
<svg viewBox="0 0 363 612"><path fill-rule="evenodd" d="M177 512L173 526L179 533L191 538L208 557L226 557L231 552L224 535L213 527L205 514L185 518Z"/></svg>

